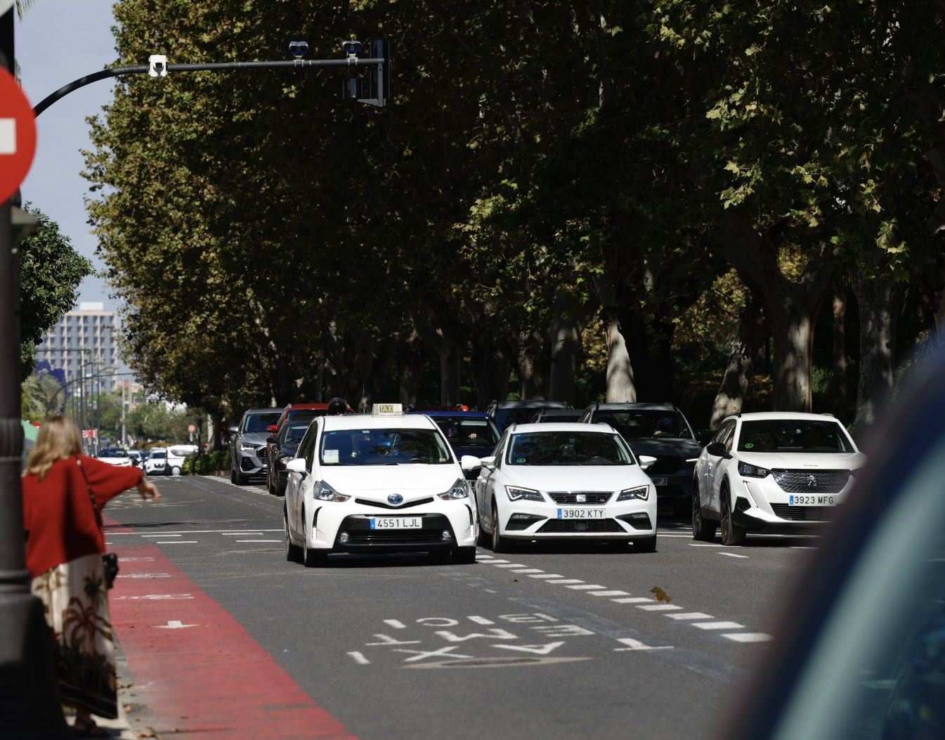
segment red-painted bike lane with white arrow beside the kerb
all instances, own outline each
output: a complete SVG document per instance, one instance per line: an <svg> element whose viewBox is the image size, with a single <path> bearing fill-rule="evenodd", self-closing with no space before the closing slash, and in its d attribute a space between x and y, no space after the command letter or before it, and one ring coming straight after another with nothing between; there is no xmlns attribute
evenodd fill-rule
<svg viewBox="0 0 945 740"><path fill-rule="evenodd" d="M109 534L131 533L104 519ZM112 626L159 736L354 740L158 547L109 549L121 568Z"/></svg>

